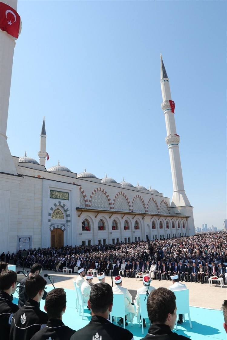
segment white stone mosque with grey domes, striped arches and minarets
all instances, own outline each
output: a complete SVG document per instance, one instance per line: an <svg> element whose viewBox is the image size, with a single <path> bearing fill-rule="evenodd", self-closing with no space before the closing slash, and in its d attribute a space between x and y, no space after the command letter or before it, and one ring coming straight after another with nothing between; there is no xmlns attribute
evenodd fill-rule
<svg viewBox="0 0 227 340"><path fill-rule="evenodd" d="M15 11L17 0L1 0ZM15 39L0 30L0 253L19 249L133 242L195 234L193 207L183 185L174 102L161 57L161 104L171 162L173 197L123 179L98 179L58 165L46 169L45 119L39 162L12 156L6 127ZM84 122L85 124L85 122ZM37 136L38 138L38 136ZM90 169L89 169L90 170Z"/></svg>

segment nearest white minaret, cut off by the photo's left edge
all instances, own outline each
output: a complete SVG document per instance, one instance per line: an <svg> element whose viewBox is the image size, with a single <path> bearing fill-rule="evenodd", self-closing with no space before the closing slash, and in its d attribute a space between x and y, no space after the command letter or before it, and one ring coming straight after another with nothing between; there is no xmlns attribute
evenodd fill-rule
<svg viewBox="0 0 227 340"><path fill-rule="evenodd" d="M17 0L0 1L17 10ZM0 172L13 175L17 171L7 143L6 129L15 45L15 38L0 30Z"/></svg>

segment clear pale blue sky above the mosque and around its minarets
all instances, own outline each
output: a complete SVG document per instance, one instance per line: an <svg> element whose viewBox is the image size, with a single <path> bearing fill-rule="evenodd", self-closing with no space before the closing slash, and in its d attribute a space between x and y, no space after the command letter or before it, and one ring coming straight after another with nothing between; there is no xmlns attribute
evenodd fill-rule
<svg viewBox="0 0 227 340"><path fill-rule="evenodd" d="M226 1L18 0L12 155L105 173L172 198L160 52L195 227L226 219Z"/></svg>

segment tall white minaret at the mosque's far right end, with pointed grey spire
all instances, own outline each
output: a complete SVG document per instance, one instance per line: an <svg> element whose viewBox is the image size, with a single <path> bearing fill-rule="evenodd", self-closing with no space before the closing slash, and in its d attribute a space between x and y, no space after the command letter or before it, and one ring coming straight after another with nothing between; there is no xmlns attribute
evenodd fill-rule
<svg viewBox="0 0 227 340"><path fill-rule="evenodd" d="M189 200L184 192L184 183L183 176L181 170L180 163L180 151L179 151L179 142L180 137L176 131L175 125L175 117L174 117L174 108L175 104L172 101L169 79L165 70L165 66L162 60L161 55L161 89L162 89L162 110L165 115L165 125L167 131L167 137L165 138L166 144L169 149L169 158L171 164L171 172L172 172L172 180L173 180L173 197L171 202L172 207L182 207L182 206L190 206Z"/></svg>

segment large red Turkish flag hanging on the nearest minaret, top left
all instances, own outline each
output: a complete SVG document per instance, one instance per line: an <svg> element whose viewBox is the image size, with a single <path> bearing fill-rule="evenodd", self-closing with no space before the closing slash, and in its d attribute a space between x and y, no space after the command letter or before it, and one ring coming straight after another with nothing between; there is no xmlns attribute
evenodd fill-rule
<svg viewBox="0 0 227 340"><path fill-rule="evenodd" d="M9 5L0 2L0 29L18 38L20 22L19 14Z"/></svg>

